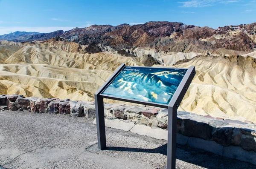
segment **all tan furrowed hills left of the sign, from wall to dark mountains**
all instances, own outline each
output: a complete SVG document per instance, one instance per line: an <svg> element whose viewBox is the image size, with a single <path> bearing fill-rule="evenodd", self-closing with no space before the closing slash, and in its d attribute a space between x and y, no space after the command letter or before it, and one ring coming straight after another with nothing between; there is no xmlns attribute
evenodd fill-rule
<svg viewBox="0 0 256 169"><path fill-rule="evenodd" d="M144 66L137 57L88 54L85 47L55 40L0 46L0 94L93 101L96 90L122 63Z"/></svg>

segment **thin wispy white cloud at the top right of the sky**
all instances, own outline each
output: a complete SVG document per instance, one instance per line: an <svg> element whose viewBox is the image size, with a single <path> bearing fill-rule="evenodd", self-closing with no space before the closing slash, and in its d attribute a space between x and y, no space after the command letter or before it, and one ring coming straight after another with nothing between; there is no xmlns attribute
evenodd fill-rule
<svg viewBox="0 0 256 169"><path fill-rule="evenodd" d="M180 7L184 8L200 8L206 6L214 6L217 3L236 3L240 0L187 0L185 2L178 2L182 3L183 5Z"/></svg>

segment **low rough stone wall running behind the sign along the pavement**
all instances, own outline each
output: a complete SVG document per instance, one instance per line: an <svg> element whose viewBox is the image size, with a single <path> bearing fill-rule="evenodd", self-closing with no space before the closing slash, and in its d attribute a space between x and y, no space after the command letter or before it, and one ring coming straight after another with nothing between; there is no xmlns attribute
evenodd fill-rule
<svg viewBox="0 0 256 169"><path fill-rule="evenodd" d="M122 103L105 104L104 108L107 120L119 119L152 129L166 130L168 127L167 109L128 106ZM69 99L0 95L0 110L8 109L95 118L93 102ZM224 120L177 112L177 143L256 164L256 125L250 121Z"/></svg>

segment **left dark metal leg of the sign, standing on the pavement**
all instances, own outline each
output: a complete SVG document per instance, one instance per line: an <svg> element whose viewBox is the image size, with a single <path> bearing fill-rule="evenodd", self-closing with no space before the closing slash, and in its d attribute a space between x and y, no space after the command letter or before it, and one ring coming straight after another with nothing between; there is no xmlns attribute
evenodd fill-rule
<svg viewBox="0 0 256 169"><path fill-rule="evenodd" d="M95 95L95 108L96 108L96 122L97 122L97 136L98 147L101 150L106 148L106 132L105 132L105 118L104 118L104 103L103 98Z"/></svg>

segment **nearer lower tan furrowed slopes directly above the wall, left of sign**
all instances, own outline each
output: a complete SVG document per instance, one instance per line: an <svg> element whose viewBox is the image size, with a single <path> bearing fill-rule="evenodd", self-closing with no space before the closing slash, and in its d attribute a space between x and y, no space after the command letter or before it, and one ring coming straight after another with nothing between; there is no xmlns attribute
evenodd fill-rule
<svg viewBox="0 0 256 169"><path fill-rule="evenodd" d="M45 64L0 65L1 94L94 100L112 71L61 68Z"/></svg>

